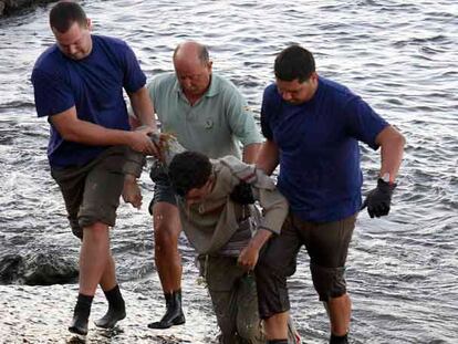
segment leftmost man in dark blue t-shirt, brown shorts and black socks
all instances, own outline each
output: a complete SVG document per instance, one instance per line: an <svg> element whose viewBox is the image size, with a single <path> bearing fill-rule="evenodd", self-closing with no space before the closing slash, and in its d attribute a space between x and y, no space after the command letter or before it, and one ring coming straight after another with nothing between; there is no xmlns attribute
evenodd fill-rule
<svg viewBox="0 0 458 344"><path fill-rule="evenodd" d="M108 228L115 225L123 190L124 150L157 155L147 136L156 124L146 77L125 42L92 35L90 19L70 1L53 7L50 25L56 43L38 59L32 83L37 113L51 125L51 174L63 194L72 231L82 240L80 294L69 330L85 335L98 283L108 312L96 325L113 327L125 317ZM123 88L144 131L129 131Z"/></svg>

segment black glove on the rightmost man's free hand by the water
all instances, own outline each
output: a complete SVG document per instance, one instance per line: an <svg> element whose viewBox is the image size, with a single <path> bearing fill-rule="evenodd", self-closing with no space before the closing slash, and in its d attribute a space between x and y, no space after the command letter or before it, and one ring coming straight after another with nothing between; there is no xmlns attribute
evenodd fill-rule
<svg viewBox="0 0 458 344"><path fill-rule="evenodd" d="M396 184L389 184L382 178L377 180L377 187L367 194L366 200L361 210L367 207L367 212L373 218L388 215L389 206L392 204L392 195Z"/></svg>

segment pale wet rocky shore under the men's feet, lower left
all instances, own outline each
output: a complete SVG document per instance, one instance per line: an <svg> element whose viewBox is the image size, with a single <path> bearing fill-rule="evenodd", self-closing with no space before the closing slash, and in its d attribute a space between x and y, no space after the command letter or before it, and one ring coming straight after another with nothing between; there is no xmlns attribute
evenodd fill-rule
<svg viewBox="0 0 458 344"><path fill-rule="evenodd" d="M205 290L186 295L185 325L160 331L146 326L164 312L160 290L146 295L135 291L135 283L123 283L127 317L111 331L93 324L106 311L106 301L98 290L91 312L90 333L84 340L67 331L76 284L0 285L0 343L217 343L218 330Z"/></svg>

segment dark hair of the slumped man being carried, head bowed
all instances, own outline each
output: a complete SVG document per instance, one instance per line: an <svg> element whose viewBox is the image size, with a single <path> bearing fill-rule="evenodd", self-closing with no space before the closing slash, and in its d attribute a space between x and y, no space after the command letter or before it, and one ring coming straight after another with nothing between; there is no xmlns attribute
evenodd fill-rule
<svg viewBox="0 0 458 344"><path fill-rule="evenodd" d="M210 178L212 165L210 159L198 152L179 153L168 166L170 184L178 196L186 196L189 190L201 188Z"/></svg>

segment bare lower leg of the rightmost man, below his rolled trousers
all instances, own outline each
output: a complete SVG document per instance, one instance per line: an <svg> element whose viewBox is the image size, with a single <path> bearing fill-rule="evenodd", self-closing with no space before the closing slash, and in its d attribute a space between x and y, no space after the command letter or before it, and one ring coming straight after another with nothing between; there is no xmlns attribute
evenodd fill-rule
<svg viewBox="0 0 458 344"><path fill-rule="evenodd" d="M350 329L352 301L348 294L332 298L327 301L327 311L331 321L331 332L335 335L345 335Z"/></svg>

